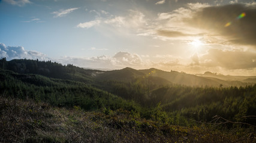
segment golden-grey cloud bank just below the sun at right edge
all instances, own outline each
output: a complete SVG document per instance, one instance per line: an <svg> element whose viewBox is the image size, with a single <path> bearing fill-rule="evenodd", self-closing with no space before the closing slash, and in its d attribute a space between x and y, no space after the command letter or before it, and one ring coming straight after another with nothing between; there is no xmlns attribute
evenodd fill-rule
<svg viewBox="0 0 256 143"><path fill-rule="evenodd" d="M209 49L208 54L200 57L200 65L223 67L228 70L256 68L256 53L249 51L222 51Z"/></svg>

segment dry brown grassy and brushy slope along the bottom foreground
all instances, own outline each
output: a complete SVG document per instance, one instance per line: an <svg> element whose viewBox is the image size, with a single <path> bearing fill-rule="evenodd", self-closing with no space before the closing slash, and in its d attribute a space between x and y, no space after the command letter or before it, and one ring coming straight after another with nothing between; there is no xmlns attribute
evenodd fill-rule
<svg viewBox="0 0 256 143"><path fill-rule="evenodd" d="M174 126L122 109L84 111L8 97L0 97L0 129L0 142L255 142L246 130Z"/></svg>

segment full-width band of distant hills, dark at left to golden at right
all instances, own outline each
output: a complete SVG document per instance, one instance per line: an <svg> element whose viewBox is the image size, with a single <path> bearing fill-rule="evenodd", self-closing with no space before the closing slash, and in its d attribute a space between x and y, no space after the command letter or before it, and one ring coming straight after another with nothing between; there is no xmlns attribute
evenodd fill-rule
<svg viewBox="0 0 256 143"><path fill-rule="evenodd" d="M138 82L150 87L160 85L186 86L245 86L256 83L256 76L224 76L207 71L204 74L187 74L177 71L163 71L158 69L135 70L126 67L121 70L91 70L68 64L38 60L0 60L0 68L21 74L40 74L58 79L70 79L78 82L98 85L103 81Z"/></svg>

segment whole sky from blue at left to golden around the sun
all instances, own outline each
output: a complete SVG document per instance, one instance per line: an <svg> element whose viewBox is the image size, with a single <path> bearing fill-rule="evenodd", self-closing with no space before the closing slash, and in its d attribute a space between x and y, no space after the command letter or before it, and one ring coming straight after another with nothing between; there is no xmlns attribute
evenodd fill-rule
<svg viewBox="0 0 256 143"><path fill-rule="evenodd" d="M256 76L255 0L0 0L0 57Z"/></svg>

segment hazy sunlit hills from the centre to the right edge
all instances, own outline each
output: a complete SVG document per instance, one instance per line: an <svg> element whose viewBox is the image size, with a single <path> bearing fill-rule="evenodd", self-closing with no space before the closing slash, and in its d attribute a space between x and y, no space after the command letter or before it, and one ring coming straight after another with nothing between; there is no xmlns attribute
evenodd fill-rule
<svg viewBox="0 0 256 143"><path fill-rule="evenodd" d="M149 82L156 85L170 85L174 83L186 86L245 86L253 85L255 81L255 79L248 79L246 76L197 76L177 71L163 71L153 68L135 70L129 67L121 70L104 71L95 75L98 80L140 81L140 83L147 84Z"/></svg>

